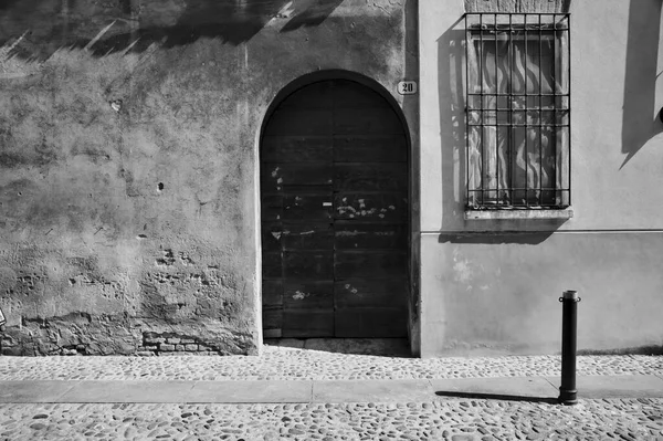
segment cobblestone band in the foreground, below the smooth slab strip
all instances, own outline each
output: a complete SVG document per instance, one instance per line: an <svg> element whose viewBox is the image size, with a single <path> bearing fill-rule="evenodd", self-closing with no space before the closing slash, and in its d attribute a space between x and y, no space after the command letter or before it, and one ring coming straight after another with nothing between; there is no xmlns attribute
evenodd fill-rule
<svg viewBox="0 0 663 441"><path fill-rule="evenodd" d="M4 405L1 440L663 440L663 399L575 407L444 399L343 405Z"/></svg>

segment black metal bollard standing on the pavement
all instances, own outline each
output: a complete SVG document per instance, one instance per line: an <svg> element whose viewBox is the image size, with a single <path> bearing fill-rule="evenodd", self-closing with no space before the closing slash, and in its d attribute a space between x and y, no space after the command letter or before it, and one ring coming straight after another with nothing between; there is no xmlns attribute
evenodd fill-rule
<svg viewBox="0 0 663 441"><path fill-rule="evenodd" d="M565 406L578 403L576 390L576 349L578 330L578 292L565 291L559 297L561 307L561 386L559 402Z"/></svg>

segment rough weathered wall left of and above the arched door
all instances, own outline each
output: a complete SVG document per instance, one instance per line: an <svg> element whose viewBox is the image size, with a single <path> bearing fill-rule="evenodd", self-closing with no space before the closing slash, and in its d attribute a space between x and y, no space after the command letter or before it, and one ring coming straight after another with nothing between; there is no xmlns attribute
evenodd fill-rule
<svg viewBox="0 0 663 441"><path fill-rule="evenodd" d="M255 354L266 107L403 75L404 1L166 3L0 6L2 354Z"/></svg>

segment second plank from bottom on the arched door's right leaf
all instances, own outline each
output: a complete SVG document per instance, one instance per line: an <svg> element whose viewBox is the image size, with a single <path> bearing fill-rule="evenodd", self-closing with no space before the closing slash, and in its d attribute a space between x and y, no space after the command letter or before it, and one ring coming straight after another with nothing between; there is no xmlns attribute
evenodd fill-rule
<svg viewBox="0 0 663 441"><path fill-rule="evenodd" d="M334 306L337 309L352 307L393 307L406 311L407 277L349 279L334 283Z"/></svg>

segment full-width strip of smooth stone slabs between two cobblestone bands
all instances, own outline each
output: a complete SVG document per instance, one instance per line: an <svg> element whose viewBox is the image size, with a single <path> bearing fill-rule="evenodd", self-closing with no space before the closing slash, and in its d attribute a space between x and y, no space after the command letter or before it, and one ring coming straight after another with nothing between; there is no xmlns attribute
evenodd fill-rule
<svg viewBox="0 0 663 441"><path fill-rule="evenodd" d="M578 398L663 398L653 375L581 376ZM0 403L341 403L425 402L454 398L556 402L559 378L435 380L12 380Z"/></svg>

